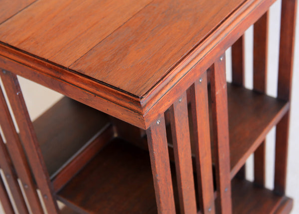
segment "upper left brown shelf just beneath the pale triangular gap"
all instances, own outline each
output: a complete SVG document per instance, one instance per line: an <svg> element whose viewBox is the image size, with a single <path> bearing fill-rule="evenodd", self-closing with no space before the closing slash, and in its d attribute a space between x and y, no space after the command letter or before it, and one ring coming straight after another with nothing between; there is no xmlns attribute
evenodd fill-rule
<svg viewBox="0 0 299 214"><path fill-rule="evenodd" d="M33 126L50 177L107 124L106 114L67 97L38 117Z"/></svg>

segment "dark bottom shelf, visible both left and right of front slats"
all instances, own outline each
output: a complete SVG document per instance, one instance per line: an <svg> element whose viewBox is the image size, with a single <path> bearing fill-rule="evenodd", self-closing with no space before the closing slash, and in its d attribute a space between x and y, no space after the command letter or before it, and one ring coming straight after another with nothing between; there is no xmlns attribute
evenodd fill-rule
<svg viewBox="0 0 299 214"><path fill-rule="evenodd" d="M176 193L173 170L172 180ZM57 195L82 214L157 213L149 153L120 139L110 142ZM292 207L291 199L238 179L232 180L232 202L234 214L283 213L280 209Z"/></svg>

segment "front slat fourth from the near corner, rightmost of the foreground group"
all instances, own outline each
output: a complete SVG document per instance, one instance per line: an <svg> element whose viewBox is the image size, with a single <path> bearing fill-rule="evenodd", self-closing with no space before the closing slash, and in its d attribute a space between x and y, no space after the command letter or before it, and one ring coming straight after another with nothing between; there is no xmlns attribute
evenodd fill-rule
<svg viewBox="0 0 299 214"><path fill-rule="evenodd" d="M216 205L221 214L231 214L232 201L225 55L223 54L216 60L211 68L211 101L218 196Z"/></svg>

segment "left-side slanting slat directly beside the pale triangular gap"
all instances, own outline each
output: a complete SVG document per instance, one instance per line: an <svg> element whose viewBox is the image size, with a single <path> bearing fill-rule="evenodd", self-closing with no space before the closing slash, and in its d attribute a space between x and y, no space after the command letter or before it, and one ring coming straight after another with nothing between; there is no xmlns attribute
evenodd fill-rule
<svg viewBox="0 0 299 214"><path fill-rule="evenodd" d="M3 85L11 104L16 123L19 127L20 137L26 151L32 173L37 186L43 196L45 207L50 214L59 213L57 203L53 194L52 184L40 151L40 147L34 133L24 98L15 74L6 71L1 73Z"/></svg>

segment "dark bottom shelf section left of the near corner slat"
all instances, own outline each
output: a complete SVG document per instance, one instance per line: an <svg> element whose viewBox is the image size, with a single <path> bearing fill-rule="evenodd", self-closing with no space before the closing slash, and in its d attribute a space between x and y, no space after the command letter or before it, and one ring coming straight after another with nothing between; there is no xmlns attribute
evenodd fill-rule
<svg viewBox="0 0 299 214"><path fill-rule="evenodd" d="M114 139L58 193L58 198L85 214L156 214L149 152Z"/></svg>

